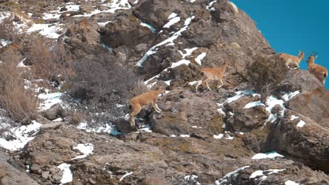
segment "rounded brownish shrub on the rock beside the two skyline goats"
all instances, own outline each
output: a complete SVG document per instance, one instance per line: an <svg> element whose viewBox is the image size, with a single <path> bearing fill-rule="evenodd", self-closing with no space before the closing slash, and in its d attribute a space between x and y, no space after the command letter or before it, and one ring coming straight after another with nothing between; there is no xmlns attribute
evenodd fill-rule
<svg viewBox="0 0 329 185"><path fill-rule="evenodd" d="M280 82L286 77L289 69L279 56L255 56L249 65L248 78L258 91L267 97L278 88Z"/></svg>

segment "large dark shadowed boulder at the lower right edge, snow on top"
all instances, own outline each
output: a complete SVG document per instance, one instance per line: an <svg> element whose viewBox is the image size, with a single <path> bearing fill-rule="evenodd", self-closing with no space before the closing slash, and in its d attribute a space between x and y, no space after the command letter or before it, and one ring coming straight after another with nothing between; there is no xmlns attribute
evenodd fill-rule
<svg viewBox="0 0 329 185"><path fill-rule="evenodd" d="M328 134L328 127L286 110L281 121L271 124L267 147L287 153L309 167L329 171Z"/></svg>

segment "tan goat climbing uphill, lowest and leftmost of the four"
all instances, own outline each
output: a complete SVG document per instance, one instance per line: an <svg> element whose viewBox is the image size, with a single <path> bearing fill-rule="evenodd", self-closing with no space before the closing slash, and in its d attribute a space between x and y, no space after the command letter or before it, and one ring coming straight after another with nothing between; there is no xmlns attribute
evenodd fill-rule
<svg viewBox="0 0 329 185"><path fill-rule="evenodd" d="M149 90L147 93L143 93L136 97L133 97L130 100L130 125L132 127L136 127L134 116L136 116L141 110L147 106L152 106L156 112L160 112L160 108L158 104L156 104L156 100L160 94L165 93L165 89L162 85L158 84L158 88L156 90Z"/></svg>

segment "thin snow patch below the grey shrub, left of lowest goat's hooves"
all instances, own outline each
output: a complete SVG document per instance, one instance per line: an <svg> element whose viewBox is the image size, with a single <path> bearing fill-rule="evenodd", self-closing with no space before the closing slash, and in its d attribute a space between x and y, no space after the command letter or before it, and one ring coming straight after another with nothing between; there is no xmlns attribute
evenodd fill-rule
<svg viewBox="0 0 329 185"><path fill-rule="evenodd" d="M108 123L99 125L99 127L89 127L88 123L83 122L77 125L77 129L84 130L86 132L97 132L97 133L108 133L113 136L117 136L121 134L121 132L118 132L113 125L110 125Z"/></svg>

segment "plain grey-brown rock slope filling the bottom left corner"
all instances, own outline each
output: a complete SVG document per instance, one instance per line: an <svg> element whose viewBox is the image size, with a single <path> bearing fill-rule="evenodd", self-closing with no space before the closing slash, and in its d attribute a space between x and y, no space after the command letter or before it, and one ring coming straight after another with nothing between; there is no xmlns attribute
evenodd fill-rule
<svg viewBox="0 0 329 185"><path fill-rule="evenodd" d="M38 185L37 182L31 179L25 172L21 172L8 161L9 157L5 153L0 152L0 184L11 185Z"/></svg>

